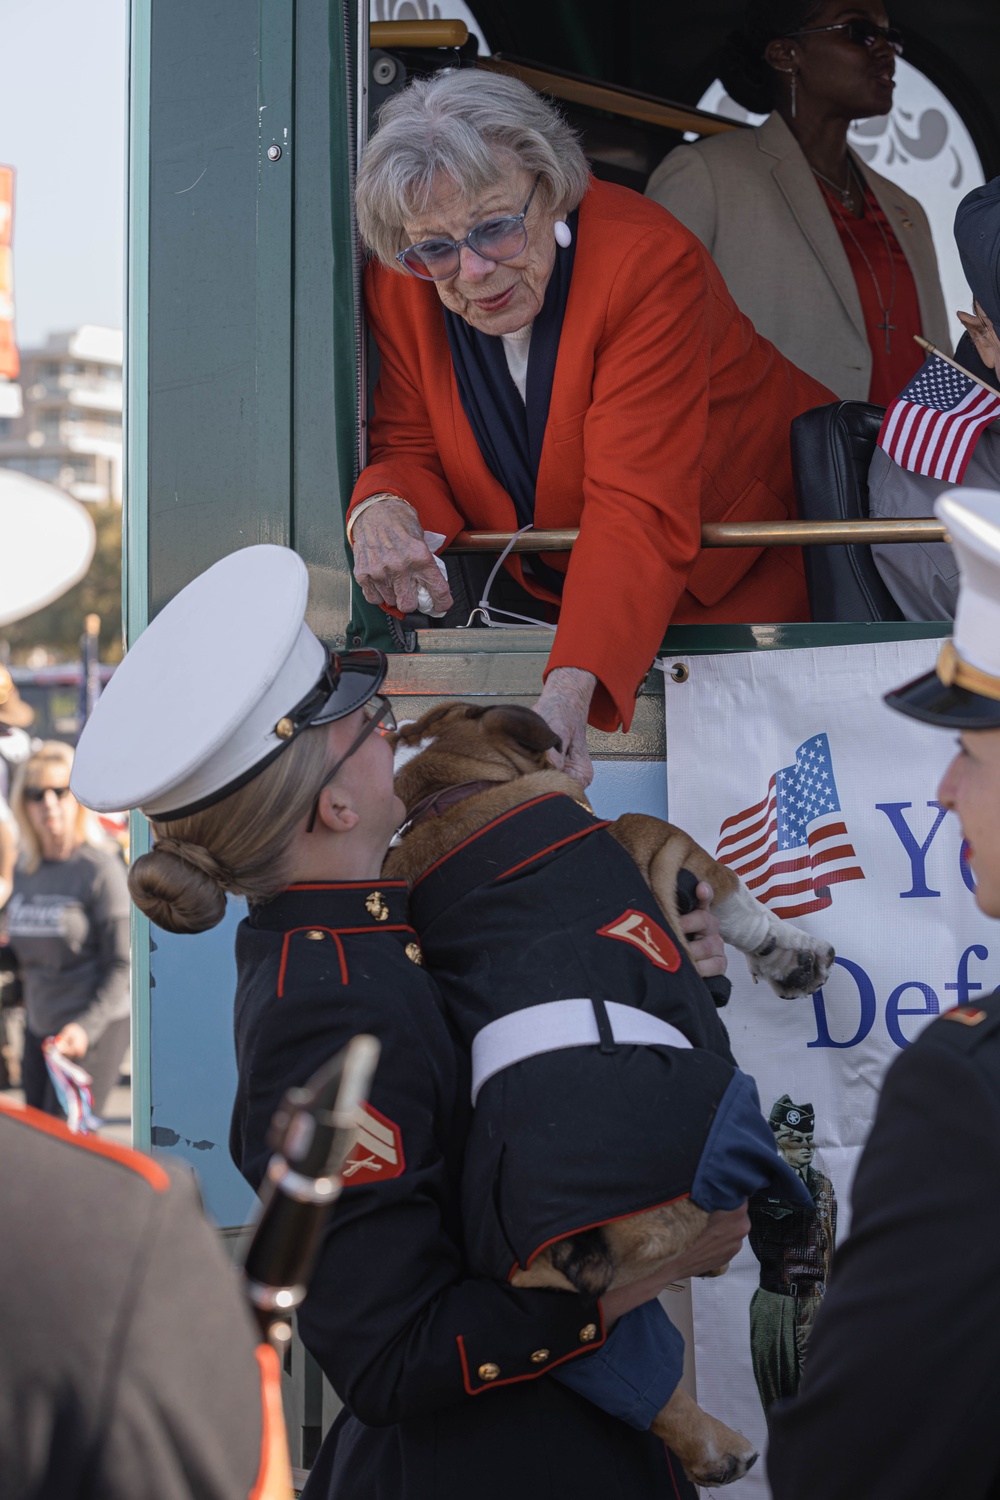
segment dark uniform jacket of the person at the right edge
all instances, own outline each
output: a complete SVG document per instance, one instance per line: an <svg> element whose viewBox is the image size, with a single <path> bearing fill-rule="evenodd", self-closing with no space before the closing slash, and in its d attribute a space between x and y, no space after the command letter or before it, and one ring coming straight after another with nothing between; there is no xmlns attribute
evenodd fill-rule
<svg viewBox="0 0 1000 1500"><path fill-rule="evenodd" d="M886 1074L795 1401L775 1500L1000 1497L1000 992Z"/></svg>

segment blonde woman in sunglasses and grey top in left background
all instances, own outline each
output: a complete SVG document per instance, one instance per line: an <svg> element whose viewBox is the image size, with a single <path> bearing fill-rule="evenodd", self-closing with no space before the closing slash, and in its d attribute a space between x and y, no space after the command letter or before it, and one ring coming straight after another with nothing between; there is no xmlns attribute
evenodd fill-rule
<svg viewBox="0 0 1000 1500"><path fill-rule="evenodd" d="M129 1046L129 892L120 849L69 789L70 746L40 746L18 766L10 807L21 834L4 910L24 992L22 1086L61 1118L42 1053L57 1048L91 1077L100 1114Z"/></svg>

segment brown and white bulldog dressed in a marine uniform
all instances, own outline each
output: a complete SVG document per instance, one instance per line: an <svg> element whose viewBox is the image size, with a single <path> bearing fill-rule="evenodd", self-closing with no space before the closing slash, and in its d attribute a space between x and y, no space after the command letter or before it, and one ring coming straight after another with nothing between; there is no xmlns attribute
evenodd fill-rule
<svg viewBox="0 0 1000 1500"><path fill-rule="evenodd" d="M411 885L424 958L471 1056L472 1269L597 1298L681 1254L712 1209L766 1182L802 1196L687 951L685 882L712 886L723 939L781 996L819 988L834 950L672 824L595 818L549 762L555 747L519 706L444 704L400 728L408 818L384 873ZM652 1431L694 1484L729 1484L757 1458L679 1386Z"/></svg>

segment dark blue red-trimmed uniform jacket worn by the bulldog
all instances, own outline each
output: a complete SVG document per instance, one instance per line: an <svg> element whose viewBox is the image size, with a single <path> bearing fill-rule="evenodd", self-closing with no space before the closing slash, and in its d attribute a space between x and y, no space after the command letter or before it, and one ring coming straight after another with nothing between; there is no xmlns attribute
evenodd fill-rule
<svg viewBox="0 0 1000 1500"><path fill-rule="evenodd" d="M553 1239L688 1194L736 1066L696 969L631 856L570 796L516 807L415 882L414 926L471 1047L498 1017L586 998L693 1044L570 1046L478 1094L463 1203L472 1266L510 1275Z"/></svg>

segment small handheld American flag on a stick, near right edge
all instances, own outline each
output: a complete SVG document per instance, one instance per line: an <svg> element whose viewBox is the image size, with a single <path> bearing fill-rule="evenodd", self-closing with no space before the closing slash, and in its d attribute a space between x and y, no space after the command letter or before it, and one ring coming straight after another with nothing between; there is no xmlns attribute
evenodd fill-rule
<svg viewBox="0 0 1000 1500"><path fill-rule="evenodd" d="M1000 412L1000 396L928 356L886 410L879 447L912 474L961 484L984 428Z"/></svg>

